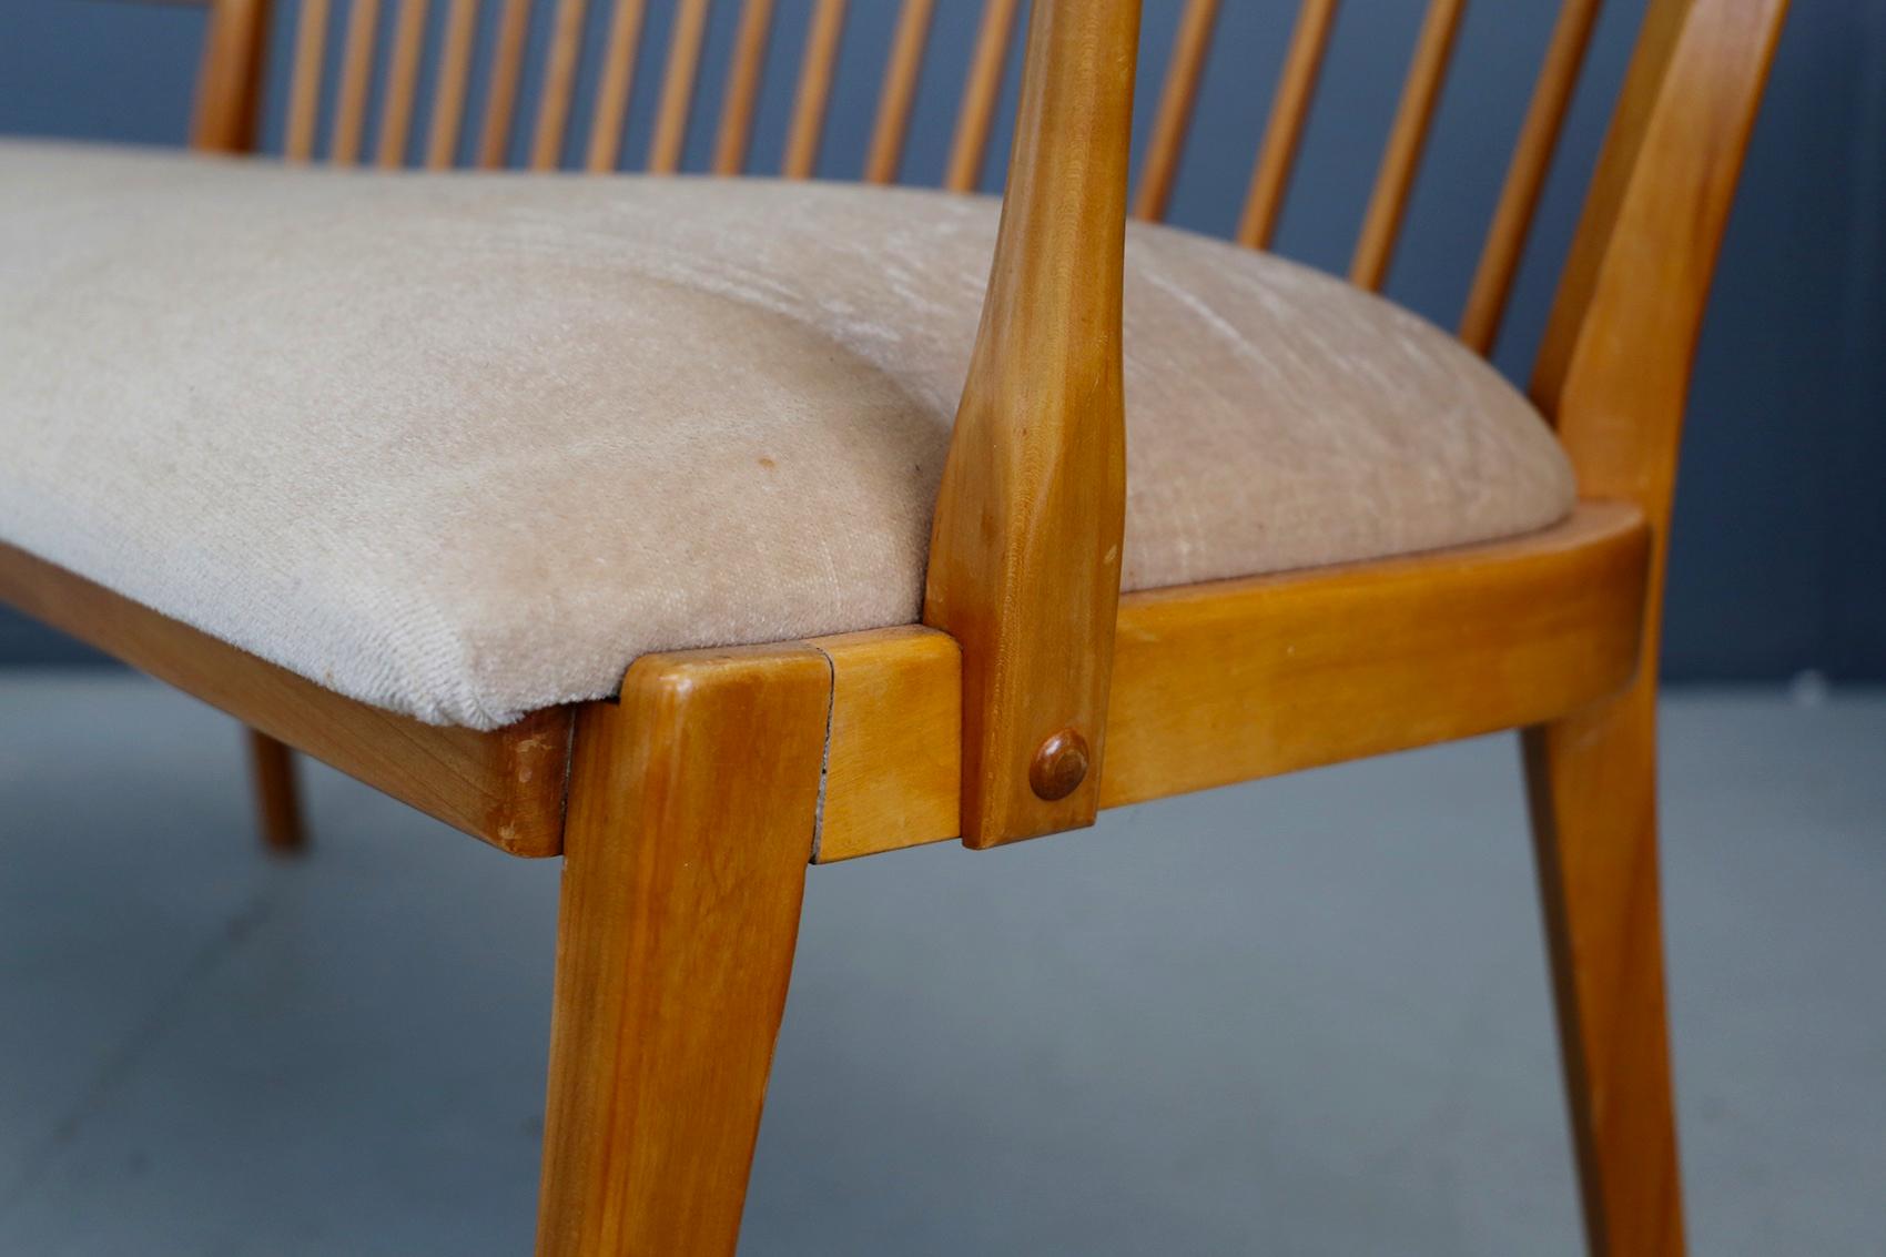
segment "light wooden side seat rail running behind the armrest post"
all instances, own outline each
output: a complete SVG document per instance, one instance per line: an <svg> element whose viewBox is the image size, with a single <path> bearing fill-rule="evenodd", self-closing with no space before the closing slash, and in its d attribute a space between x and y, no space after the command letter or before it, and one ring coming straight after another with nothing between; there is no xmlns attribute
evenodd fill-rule
<svg viewBox="0 0 1886 1257"><path fill-rule="evenodd" d="M1120 598L1100 806L1514 729L1616 693L1637 666L1643 515L1584 502L1524 538ZM964 693L913 630L832 657L820 861L956 836L958 764L924 751Z"/></svg>

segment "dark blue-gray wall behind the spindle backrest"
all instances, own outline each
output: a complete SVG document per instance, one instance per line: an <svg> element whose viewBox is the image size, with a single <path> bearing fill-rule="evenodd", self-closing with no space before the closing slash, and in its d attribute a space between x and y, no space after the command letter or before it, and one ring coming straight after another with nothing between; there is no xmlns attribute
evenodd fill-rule
<svg viewBox="0 0 1886 1257"><path fill-rule="evenodd" d="M781 4L754 170L777 166L798 36L811 0ZM443 6L434 6L434 23ZM549 4L538 4L538 38ZM592 23L609 6L592 4ZM668 6L645 40L628 153L653 113ZM905 174L937 181L975 30L969 0L939 6L932 70ZM1179 0L1147 0L1141 104L1150 104ZM705 164L737 6L720 0L690 166ZM1292 4L1230 0L1173 202L1173 221L1228 234L1249 177ZM1279 249L1341 270L1394 111L1416 0L1348 0ZM1556 4L1477 6L1462 32L1431 155L1388 291L1450 323L1545 47ZM1497 360L1522 377L1577 219L1611 92L1643 0L1609 8L1594 43ZM824 172L856 172L896 4L854 0L826 132ZM488 19L487 19L488 26ZM0 134L179 143L200 11L109 0L0 0ZM434 32L436 34L436 32ZM488 42L490 32L481 32ZM281 62L285 49L275 49ZM998 134L1009 126L1011 83ZM279 75L277 75L279 81ZM587 66L585 91L594 81ZM528 81L526 81L528 92ZM473 100L477 85L473 85ZM279 98L270 132L279 130ZM1141 109L1145 117L1147 108ZM577 117L585 117L581 111ZM571 151L575 151L575 142ZM1000 147L1000 145L998 145ZM990 157L990 181L1001 153ZM23 247L4 242L0 247ZM4 451L0 451L4 457ZM1667 668L1679 679L1886 678L1886 4L1803 0L1737 204L1692 396L1671 566ZM0 613L0 662L83 651Z"/></svg>

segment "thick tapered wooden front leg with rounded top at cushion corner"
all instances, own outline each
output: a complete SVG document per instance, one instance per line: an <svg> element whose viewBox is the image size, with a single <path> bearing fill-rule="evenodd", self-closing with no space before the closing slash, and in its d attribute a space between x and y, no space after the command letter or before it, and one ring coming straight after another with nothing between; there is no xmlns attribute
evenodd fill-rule
<svg viewBox="0 0 1886 1257"><path fill-rule="evenodd" d="M824 761L811 647L645 657L577 723L539 1257L719 1257L786 1002Z"/></svg>

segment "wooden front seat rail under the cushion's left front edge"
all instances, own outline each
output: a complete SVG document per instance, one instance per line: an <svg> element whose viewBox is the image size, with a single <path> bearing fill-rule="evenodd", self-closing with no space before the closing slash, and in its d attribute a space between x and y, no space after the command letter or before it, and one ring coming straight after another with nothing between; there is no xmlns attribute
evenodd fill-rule
<svg viewBox="0 0 1886 1257"><path fill-rule="evenodd" d="M0 544L0 602L511 855L562 849L570 712L439 729L285 668Z"/></svg>

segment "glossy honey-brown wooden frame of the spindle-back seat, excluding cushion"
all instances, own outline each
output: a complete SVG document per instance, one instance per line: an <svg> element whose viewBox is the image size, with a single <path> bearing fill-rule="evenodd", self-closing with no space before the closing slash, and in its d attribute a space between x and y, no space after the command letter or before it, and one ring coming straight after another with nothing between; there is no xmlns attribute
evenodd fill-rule
<svg viewBox="0 0 1886 1257"><path fill-rule="evenodd" d="M270 0L207 0L194 143L256 143ZM845 0L807 28L785 174L815 168ZM902 160L934 0L903 0L868 181ZM1580 504L1524 536L1120 596L1120 293L1137 0L1035 0L994 274L932 534L924 625L636 659L613 700L475 730L345 698L19 547L0 598L249 723L264 832L285 747L515 855L564 855L541 1253L730 1253L807 864L996 847L1122 806L1518 729L1596 1253L1682 1249L1656 859L1656 642L1692 349L1786 0L1650 0L1531 398ZM1216 0L1184 8L1132 213L1173 191ZM477 164L504 164L528 0L504 0ZM681 166L707 0L677 0L649 170ZM1269 243L1330 40L1305 0L1239 242ZM1350 279L1388 272L1464 0L1431 0ZM302 0L285 155L315 155L328 0ZM986 0L949 162L973 189L1018 0ZM1497 332L1597 0L1565 0L1460 325ZM443 17L428 166L466 136L477 0ZM587 166L622 147L643 0L617 0ZM375 0L339 49L356 162ZM747 0L715 145L741 174L771 21ZM400 0L377 160L405 164L426 0ZM530 164L560 162L585 0L558 0Z"/></svg>

